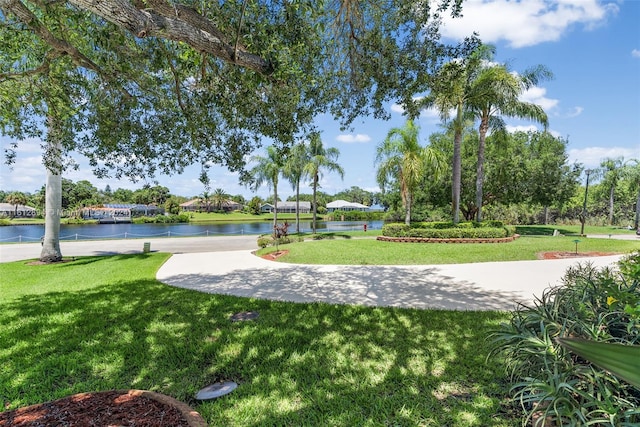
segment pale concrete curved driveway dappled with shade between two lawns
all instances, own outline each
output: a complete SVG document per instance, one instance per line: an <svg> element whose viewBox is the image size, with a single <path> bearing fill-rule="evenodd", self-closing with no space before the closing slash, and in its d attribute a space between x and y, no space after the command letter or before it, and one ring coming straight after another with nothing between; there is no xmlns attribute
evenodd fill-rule
<svg viewBox="0 0 640 427"><path fill-rule="evenodd" d="M292 302L447 310L512 310L560 284L570 265L612 265L621 256L474 264L307 265L267 261L250 250L175 254L163 283L201 292Z"/></svg>

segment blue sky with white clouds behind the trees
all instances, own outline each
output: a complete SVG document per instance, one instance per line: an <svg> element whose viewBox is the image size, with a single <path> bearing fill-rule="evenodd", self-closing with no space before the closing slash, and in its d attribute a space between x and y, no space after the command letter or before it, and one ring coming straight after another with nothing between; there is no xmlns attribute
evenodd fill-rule
<svg viewBox="0 0 640 427"><path fill-rule="evenodd" d="M549 117L549 130L568 140L569 162L587 168L598 167L604 158L640 159L640 1L638 0L466 0L463 17L445 21L444 41L455 42L476 31L484 43L496 47L496 62L508 63L513 71L544 65L554 78L523 94L523 101L542 106ZM377 192L375 150L393 127L406 118L398 105L387 106L391 119L357 119L348 131L329 116L317 120L325 147L340 151L338 163L344 178L325 173L320 190L336 194L352 186ZM541 129L530 122L505 118L511 130ZM424 112L418 123L420 141L442 130L437 114ZM0 136L0 149L12 142ZM39 140L19 142L13 167L0 166L0 190L38 191L45 182ZM254 154L264 155L264 149ZM137 189L144 182L98 179L88 163L77 158L80 169L63 176L74 182L89 180L97 188L109 185ZM157 176L150 184L169 188L172 194L192 197L205 190L198 176L200 166L187 168L174 176ZM225 168L210 171L211 190L222 188L228 194L266 198L266 185L256 192L238 182L238 176ZM311 193L308 183L301 192ZM281 180L282 200L294 194Z"/></svg>

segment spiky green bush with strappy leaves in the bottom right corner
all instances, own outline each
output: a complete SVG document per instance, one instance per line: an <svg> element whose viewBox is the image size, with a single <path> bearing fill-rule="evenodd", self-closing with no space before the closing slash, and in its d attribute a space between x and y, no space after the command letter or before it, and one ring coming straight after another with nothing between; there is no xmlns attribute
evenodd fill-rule
<svg viewBox="0 0 640 427"><path fill-rule="evenodd" d="M557 341L640 344L639 266L640 251L618 269L588 263L569 268L562 286L545 291L532 307L518 307L510 324L492 335L525 423L538 412L552 425L640 425L640 389Z"/></svg>

